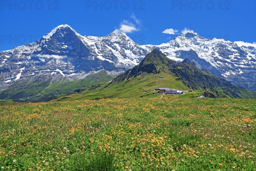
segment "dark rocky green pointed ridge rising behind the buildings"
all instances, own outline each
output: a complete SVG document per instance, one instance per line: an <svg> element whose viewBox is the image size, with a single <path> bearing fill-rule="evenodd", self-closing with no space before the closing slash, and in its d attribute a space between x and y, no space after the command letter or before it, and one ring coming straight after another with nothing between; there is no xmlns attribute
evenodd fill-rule
<svg viewBox="0 0 256 171"><path fill-rule="evenodd" d="M137 77L143 72L157 74L164 72L177 77L177 80L191 89L207 89L221 98L256 98L255 93L238 85L233 85L229 81L221 79L206 70L199 69L195 63L191 63L188 59L180 63L170 60L161 51L154 49L142 62L116 77L114 82L120 82L125 78ZM221 91L220 91L221 90Z"/></svg>

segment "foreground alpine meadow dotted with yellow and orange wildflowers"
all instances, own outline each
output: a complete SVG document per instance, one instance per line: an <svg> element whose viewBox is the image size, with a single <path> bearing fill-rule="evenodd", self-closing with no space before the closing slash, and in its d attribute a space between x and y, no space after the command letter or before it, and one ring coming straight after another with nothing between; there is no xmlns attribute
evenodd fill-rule
<svg viewBox="0 0 256 171"><path fill-rule="evenodd" d="M256 171L256 100L0 103L0 170Z"/></svg>

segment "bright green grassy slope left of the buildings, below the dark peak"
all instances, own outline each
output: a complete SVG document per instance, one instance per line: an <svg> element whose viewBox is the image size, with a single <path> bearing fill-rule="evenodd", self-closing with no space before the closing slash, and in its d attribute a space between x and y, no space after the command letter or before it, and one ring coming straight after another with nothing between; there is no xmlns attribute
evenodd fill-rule
<svg viewBox="0 0 256 171"><path fill-rule="evenodd" d="M162 75L164 78L159 78ZM80 94L73 94L58 100L83 100L97 98L130 98L143 97L144 91L147 97L157 97L152 94L155 88L169 87L183 89L187 87L182 81L176 81L177 77L166 73L141 74L138 77L124 80L120 83L101 83L99 87L91 86ZM149 90L151 89L151 91ZM151 94L149 94L151 93Z"/></svg>

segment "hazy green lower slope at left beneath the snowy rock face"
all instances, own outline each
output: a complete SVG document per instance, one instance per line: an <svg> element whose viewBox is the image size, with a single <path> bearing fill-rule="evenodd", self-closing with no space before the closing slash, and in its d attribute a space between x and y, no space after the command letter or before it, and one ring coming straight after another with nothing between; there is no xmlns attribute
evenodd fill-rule
<svg viewBox="0 0 256 171"><path fill-rule="evenodd" d="M114 78L105 71L91 74L82 80L70 81L67 78L59 81L37 81L23 80L23 82L12 85L4 91L0 91L0 101L15 102L41 102L49 101L65 94L79 92L84 87Z"/></svg>

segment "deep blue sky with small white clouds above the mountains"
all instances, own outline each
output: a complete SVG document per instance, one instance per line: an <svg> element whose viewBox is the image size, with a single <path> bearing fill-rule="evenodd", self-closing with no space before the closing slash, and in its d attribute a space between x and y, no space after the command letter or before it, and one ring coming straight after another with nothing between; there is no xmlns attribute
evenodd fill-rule
<svg viewBox="0 0 256 171"><path fill-rule="evenodd" d="M0 51L32 43L61 24L81 35L119 29L140 44L166 43L186 31L253 43L256 1L0 0Z"/></svg>

